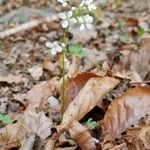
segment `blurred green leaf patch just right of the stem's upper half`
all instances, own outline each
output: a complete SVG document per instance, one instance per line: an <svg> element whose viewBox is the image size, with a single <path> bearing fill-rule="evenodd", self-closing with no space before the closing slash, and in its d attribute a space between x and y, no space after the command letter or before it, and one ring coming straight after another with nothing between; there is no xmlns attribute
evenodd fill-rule
<svg viewBox="0 0 150 150"><path fill-rule="evenodd" d="M77 43L70 44L68 47L68 51L71 54L78 55L80 58L83 58L86 56L86 53L83 50L82 46Z"/></svg>

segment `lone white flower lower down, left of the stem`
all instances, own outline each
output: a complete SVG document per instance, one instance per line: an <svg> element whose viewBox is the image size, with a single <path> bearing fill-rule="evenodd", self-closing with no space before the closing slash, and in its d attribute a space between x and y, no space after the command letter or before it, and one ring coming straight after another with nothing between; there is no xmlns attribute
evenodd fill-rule
<svg viewBox="0 0 150 150"><path fill-rule="evenodd" d="M62 47L58 44L57 41L54 43L46 42L46 47L51 49L52 55L56 55L57 52L62 52Z"/></svg>

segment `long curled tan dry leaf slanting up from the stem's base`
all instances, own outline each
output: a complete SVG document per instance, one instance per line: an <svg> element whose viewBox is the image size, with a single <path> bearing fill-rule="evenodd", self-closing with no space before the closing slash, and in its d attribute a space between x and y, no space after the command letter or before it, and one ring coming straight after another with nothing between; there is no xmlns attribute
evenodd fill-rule
<svg viewBox="0 0 150 150"><path fill-rule="evenodd" d="M108 76L89 79L66 109L61 127L72 120L82 119L119 82L119 79Z"/></svg>

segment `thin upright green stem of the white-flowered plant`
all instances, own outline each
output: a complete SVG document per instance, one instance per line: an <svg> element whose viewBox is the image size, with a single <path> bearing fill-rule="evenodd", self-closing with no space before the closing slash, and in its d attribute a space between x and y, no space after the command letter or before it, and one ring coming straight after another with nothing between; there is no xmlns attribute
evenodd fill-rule
<svg viewBox="0 0 150 150"><path fill-rule="evenodd" d="M63 36L63 43L66 45L66 36L67 36L67 29L64 31ZM65 50L62 52L62 97L61 97L61 120L63 119L64 114L64 106L65 106Z"/></svg>

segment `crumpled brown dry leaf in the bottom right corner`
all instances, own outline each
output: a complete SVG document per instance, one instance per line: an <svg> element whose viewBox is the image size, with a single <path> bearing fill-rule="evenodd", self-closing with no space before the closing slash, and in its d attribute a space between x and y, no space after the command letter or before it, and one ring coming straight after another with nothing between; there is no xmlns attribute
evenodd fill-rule
<svg viewBox="0 0 150 150"><path fill-rule="evenodd" d="M128 130L126 144L130 150L150 149L150 126L142 126Z"/></svg>

